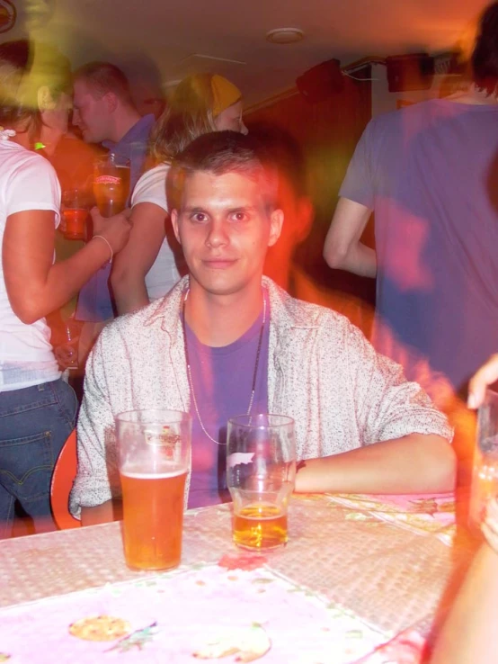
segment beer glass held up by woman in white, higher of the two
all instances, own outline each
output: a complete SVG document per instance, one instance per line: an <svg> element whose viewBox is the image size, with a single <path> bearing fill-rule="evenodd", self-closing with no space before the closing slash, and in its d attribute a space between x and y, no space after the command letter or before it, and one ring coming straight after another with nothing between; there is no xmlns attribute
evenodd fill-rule
<svg viewBox="0 0 498 664"><path fill-rule="evenodd" d="M93 194L102 217L126 208L129 197L129 159L110 153L93 162Z"/></svg>

